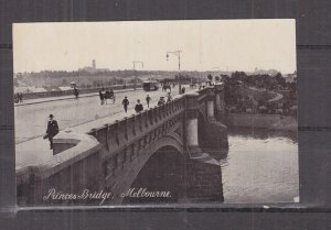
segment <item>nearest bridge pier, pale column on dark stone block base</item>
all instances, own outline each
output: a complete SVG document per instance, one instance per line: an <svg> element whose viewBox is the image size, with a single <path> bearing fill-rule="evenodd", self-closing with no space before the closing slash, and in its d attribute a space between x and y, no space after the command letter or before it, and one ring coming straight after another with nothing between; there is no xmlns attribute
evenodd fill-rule
<svg viewBox="0 0 331 230"><path fill-rule="evenodd" d="M214 103L209 103L212 116ZM224 201L222 172L218 161L203 153L199 146L199 94L186 95L185 111L185 196L189 202Z"/></svg>

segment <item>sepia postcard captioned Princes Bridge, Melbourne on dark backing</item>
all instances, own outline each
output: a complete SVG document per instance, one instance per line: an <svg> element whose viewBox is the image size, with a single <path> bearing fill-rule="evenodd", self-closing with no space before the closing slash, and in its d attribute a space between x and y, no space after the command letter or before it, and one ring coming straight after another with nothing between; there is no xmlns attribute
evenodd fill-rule
<svg viewBox="0 0 331 230"><path fill-rule="evenodd" d="M299 202L295 20L12 33L18 206Z"/></svg>

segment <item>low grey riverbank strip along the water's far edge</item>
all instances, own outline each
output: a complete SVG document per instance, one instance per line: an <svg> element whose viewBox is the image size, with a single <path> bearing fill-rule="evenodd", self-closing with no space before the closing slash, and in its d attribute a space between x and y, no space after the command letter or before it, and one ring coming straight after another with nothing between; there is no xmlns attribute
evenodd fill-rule
<svg viewBox="0 0 331 230"><path fill-rule="evenodd" d="M228 113L224 118L227 127L261 128L298 132L298 121L291 116Z"/></svg>

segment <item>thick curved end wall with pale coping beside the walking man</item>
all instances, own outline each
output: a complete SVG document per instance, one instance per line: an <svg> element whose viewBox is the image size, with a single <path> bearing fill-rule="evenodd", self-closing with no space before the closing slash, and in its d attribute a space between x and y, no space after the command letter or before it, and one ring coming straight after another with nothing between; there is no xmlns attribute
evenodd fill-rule
<svg viewBox="0 0 331 230"><path fill-rule="evenodd" d="M17 168L18 205L44 206L52 204L84 204L84 200L46 198L47 194L82 194L97 189L100 179L102 145L86 134L66 134L76 145L57 153L49 162ZM72 142L73 143L73 142ZM56 149L56 141L54 142ZM45 198L44 198L45 197Z"/></svg>

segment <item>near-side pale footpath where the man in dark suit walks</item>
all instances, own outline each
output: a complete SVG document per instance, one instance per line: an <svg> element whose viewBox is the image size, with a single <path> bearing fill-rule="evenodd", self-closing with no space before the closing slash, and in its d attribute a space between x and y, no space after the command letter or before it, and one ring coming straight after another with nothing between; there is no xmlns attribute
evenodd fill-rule
<svg viewBox="0 0 331 230"><path fill-rule="evenodd" d="M192 92L189 90L188 92ZM181 95L173 96L174 98L180 98ZM152 101L150 108L156 107L158 101ZM148 109L145 105L145 109ZM131 117L136 114L134 106L128 109L126 113L121 110L118 113L115 113L109 117L105 117L98 120L94 120L87 123L78 124L73 128L66 128L62 132L71 131L74 133L86 133L94 128L103 127L104 124L114 123L116 120L124 119L125 117ZM32 139L26 142L22 142L15 145L15 167L22 168L29 165L39 165L41 163L46 163L53 158L53 151L50 150L49 140L43 140L42 136Z"/></svg>

